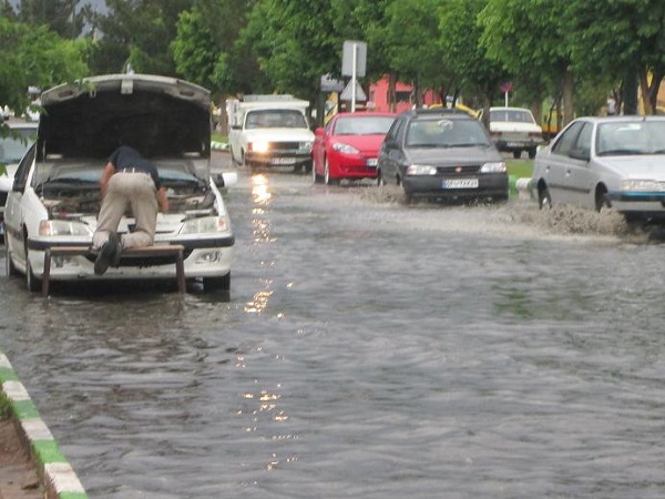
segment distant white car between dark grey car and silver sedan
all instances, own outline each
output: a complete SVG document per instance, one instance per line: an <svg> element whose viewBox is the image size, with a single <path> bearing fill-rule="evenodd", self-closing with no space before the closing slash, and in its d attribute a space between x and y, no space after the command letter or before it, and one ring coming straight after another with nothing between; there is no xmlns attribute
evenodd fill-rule
<svg viewBox="0 0 665 499"><path fill-rule="evenodd" d="M490 108L490 134L497 149L522 157L522 152L534 159L538 146L543 143L543 130L533 114L523 108Z"/></svg>

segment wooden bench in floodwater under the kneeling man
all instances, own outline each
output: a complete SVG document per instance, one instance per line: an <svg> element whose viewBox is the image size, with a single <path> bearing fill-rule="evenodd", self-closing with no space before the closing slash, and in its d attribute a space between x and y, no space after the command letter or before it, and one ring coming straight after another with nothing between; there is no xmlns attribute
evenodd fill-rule
<svg viewBox="0 0 665 499"><path fill-rule="evenodd" d="M157 246L129 247L123 249L122 258L132 256L175 256L175 277L177 279L177 291L185 292L185 264L183 253L185 247L182 244L163 244ZM51 278L51 258L53 256L80 256L94 255L88 246L52 246L44 251L44 274L42 277L42 295L49 296L49 281Z"/></svg>

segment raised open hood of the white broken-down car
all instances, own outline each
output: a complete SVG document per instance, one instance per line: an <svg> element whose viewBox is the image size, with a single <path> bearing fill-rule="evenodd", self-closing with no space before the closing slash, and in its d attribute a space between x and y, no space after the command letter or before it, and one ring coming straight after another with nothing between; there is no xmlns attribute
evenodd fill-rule
<svg viewBox="0 0 665 499"><path fill-rule="evenodd" d="M104 161L121 144L144 156L211 155L209 91L175 78L106 74L45 91L38 160Z"/></svg>

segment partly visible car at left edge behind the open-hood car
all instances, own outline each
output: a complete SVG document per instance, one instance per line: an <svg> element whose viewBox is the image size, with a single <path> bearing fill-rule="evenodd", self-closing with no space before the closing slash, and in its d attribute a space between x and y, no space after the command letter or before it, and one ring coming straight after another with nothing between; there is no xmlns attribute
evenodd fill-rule
<svg viewBox="0 0 665 499"><path fill-rule="evenodd" d="M4 205L7 193L11 190L19 161L23 157L37 138L37 123L8 121L6 131L0 134L0 240L4 238Z"/></svg>

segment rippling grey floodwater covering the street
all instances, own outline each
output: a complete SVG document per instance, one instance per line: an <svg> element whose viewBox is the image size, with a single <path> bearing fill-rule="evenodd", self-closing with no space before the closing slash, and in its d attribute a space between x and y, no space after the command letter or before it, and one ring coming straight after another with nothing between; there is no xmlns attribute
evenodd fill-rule
<svg viewBox="0 0 665 499"><path fill-rule="evenodd" d="M288 172L227 201L229 295L0 279L0 348L91 498L665 496L665 246Z"/></svg>

